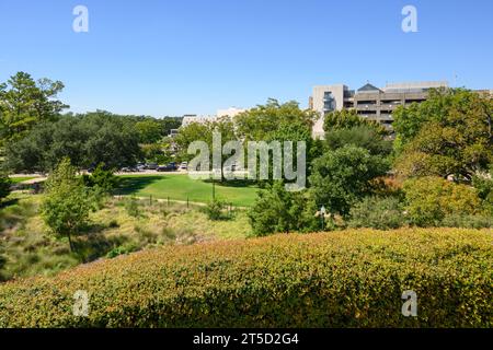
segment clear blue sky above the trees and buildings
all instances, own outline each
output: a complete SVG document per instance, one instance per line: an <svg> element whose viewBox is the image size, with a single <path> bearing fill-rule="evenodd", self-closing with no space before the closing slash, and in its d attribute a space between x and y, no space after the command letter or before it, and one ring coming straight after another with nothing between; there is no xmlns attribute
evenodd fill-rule
<svg viewBox="0 0 493 350"><path fill-rule="evenodd" d="M72 9L89 10L74 33ZM401 30L404 5L417 33ZM316 84L493 89L491 0L0 0L0 81L61 80L73 112L215 114Z"/></svg>

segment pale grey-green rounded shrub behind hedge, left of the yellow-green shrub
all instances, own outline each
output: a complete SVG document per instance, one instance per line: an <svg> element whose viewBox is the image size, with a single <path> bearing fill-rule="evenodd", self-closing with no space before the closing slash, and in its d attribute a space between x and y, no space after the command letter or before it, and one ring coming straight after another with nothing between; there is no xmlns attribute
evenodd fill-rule
<svg viewBox="0 0 493 350"><path fill-rule="evenodd" d="M367 197L349 212L349 228L398 229L406 224L403 205L394 197Z"/></svg>

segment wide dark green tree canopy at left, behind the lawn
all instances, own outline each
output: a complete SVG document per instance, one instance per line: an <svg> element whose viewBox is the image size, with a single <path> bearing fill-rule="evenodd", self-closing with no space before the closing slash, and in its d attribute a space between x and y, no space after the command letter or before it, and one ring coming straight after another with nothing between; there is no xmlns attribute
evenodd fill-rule
<svg viewBox="0 0 493 350"><path fill-rule="evenodd" d="M5 149L5 166L14 172L49 172L65 156L78 168L104 163L106 170L135 165L141 159L133 124L106 112L43 122Z"/></svg>

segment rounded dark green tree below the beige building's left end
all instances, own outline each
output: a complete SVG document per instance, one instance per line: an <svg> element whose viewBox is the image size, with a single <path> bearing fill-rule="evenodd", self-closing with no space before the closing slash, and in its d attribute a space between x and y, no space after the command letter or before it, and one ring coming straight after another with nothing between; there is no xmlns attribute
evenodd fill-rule
<svg viewBox="0 0 493 350"><path fill-rule="evenodd" d="M355 202L374 191L372 180L388 170L386 159L349 144L314 160L309 183L319 207L347 215Z"/></svg>

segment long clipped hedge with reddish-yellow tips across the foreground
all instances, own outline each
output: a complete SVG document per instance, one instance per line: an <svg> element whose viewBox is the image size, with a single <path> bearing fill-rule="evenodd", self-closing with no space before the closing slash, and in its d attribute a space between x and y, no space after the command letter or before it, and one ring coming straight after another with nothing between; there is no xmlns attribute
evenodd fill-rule
<svg viewBox="0 0 493 350"><path fill-rule="evenodd" d="M163 247L4 283L0 327L492 327L492 243L410 229ZM405 290L417 317L401 314Z"/></svg>

